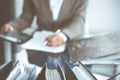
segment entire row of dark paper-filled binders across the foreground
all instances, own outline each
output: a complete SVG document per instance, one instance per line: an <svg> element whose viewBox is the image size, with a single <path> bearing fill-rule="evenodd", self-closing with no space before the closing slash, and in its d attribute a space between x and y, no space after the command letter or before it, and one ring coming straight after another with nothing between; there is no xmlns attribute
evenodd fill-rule
<svg viewBox="0 0 120 80"><path fill-rule="evenodd" d="M70 67L66 62L65 69L58 65L57 69L48 69L45 63L43 67L36 65L20 64L13 62L0 67L0 80L97 80L97 78L79 62L79 65ZM120 73L107 78L112 80L119 76Z"/></svg>

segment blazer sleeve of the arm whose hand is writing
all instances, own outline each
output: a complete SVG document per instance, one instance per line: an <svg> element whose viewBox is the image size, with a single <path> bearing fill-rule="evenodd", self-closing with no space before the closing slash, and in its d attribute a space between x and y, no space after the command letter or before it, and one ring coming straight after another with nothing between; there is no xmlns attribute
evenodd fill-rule
<svg viewBox="0 0 120 80"><path fill-rule="evenodd" d="M87 5L88 0L77 0L72 18L62 29L70 40L84 34Z"/></svg>

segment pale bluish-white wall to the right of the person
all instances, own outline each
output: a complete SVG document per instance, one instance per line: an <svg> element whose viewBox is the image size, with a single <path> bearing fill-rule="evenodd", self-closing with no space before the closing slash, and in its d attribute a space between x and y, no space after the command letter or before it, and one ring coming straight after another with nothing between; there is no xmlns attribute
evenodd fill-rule
<svg viewBox="0 0 120 80"><path fill-rule="evenodd" d="M120 0L89 1L86 23L89 32L120 32Z"/></svg>

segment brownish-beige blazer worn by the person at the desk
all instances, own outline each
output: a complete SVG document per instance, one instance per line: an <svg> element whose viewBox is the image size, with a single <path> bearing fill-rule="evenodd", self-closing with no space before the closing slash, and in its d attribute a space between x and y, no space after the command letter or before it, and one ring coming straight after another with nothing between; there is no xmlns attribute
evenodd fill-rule
<svg viewBox="0 0 120 80"><path fill-rule="evenodd" d="M23 30L37 17L39 30L61 29L70 39L83 34L88 0L64 0L59 18L53 21L49 0L24 0L21 16L10 22L17 30Z"/></svg>

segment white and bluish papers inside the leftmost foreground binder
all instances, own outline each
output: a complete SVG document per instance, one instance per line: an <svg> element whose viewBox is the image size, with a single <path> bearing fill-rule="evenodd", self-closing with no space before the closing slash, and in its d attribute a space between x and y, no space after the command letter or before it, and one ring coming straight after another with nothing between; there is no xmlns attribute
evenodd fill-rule
<svg viewBox="0 0 120 80"><path fill-rule="evenodd" d="M16 63L11 70L6 80L35 80L36 66L29 67L28 65Z"/></svg>

